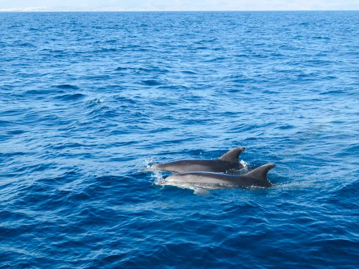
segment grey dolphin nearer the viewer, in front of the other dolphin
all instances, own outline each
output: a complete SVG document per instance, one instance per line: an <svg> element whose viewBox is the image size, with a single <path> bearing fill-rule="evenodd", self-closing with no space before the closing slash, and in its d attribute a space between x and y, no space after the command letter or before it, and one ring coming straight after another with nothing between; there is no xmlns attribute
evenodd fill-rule
<svg viewBox="0 0 359 269"><path fill-rule="evenodd" d="M167 177L164 181L158 182L158 185L181 185L183 183L191 183L200 185L202 188L213 189L217 185L217 189L224 189L231 186L238 187L271 187L272 183L267 179L267 173L275 164L269 163L258 167L251 172L242 176L218 174L209 172L189 172L178 173Z"/></svg>

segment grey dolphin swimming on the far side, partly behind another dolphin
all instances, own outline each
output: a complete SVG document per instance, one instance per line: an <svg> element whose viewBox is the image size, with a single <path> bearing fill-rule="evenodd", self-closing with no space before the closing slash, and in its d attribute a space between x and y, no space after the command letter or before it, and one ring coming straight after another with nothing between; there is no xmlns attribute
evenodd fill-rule
<svg viewBox="0 0 359 269"><path fill-rule="evenodd" d="M213 173L235 173L236 170L244 168L238 161L238 156L244 151L244 147L235 148L218 159L188 159L178 160L153 165L150 170L161 170L168 172L213 172Z"/></svg>

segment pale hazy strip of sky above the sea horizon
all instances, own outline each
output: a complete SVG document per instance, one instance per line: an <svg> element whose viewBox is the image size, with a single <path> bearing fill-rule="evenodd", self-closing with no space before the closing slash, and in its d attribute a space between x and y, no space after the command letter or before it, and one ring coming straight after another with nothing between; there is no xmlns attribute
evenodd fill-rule
<svg viewBox="0 0 359 269"><path fill-rule="evenodd" d="M359 10L359 0L0 0L0 11Z"/></svg>

